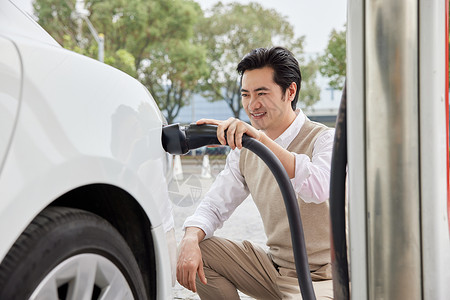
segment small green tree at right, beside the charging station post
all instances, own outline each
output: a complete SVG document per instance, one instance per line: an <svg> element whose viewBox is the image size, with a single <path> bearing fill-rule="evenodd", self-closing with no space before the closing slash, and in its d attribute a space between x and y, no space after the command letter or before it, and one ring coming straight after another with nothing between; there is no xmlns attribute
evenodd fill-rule
<svg viewBox="0 0 450 300"><path fill-rule="evenodd" d="M329 79L330 87L338 90L343 89L345 81L345 35L346 30L337 31L333 29L325 54L319 60L320 73Z"/></svg>

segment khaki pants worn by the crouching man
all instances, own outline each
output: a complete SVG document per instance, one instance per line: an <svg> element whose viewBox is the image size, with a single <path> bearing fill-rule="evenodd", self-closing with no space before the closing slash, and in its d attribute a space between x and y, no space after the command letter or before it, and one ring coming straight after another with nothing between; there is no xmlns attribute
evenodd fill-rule
<svg viewBox="0 0 450 300"><path fill-rule="evenodd" d="M277 271L260 247L212 237L200 248L208 280L205 285L197 277L201 299L240 299L237 289L255 299L302 299L297 278L281 275L287 270ZM317 300L333 299L331 280L315 281L313 287Z"/></svg>

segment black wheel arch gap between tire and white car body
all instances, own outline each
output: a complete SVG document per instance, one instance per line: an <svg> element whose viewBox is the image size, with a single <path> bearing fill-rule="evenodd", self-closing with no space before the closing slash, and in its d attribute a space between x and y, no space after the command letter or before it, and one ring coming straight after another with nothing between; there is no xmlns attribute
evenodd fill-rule
<svg viewBox="0 0 450 300"><path fill-rule="evenodd" d="M142 206L125 190L89 184L71 190L49 206L83 209L107 220L123 236L136 258L149 299L156 299L157 276L152 224Z"/></svg>

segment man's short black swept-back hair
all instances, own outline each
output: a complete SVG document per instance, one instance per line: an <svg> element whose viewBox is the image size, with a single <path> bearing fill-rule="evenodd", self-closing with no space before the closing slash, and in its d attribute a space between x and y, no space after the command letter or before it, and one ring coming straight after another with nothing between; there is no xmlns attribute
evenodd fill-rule
<svg viewBox="0 0 450 300"><path fill-rule="evenodd" d="M241 84L245 71L264 67L270 67L274 70L273 81L281 87L283 94L292 82L297 84L297 92L291 102L292 109L295 110L302 83L302 74L294 55L283 47L257 48L250 51L236 68L241 75Z"/></svg>

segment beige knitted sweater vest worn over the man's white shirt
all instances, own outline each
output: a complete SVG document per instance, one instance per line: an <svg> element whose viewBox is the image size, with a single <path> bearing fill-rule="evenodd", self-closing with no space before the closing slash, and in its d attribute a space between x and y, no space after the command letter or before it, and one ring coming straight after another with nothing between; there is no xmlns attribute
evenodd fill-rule
<svg viewBox="0 0 450 300"><path fill-rule="evenodd" d="M311 159L314 142L327 127L306 121L287 147L290 152L306 154ZM275 264L295 270L294 254L286 207L278 184L266 164L253 152L242 149L239 168L258 207L267 236L269 255ZM306 203L297 199L305 234L311 277L331 279L329 203ZM288 272L294 275L294 272Z"/></svg>

